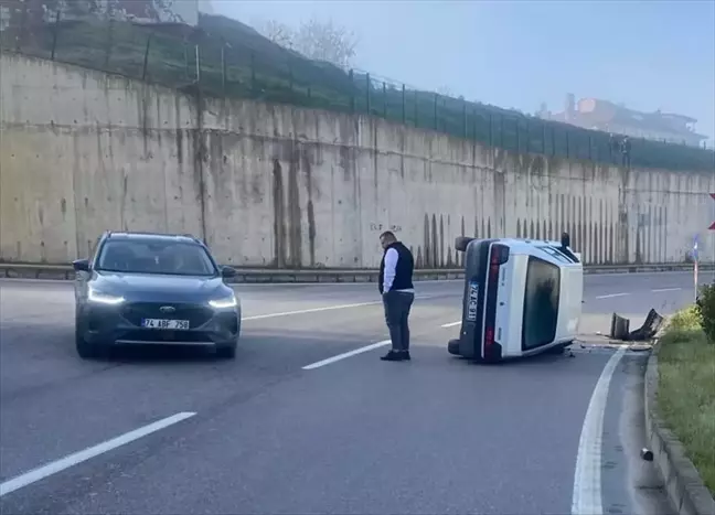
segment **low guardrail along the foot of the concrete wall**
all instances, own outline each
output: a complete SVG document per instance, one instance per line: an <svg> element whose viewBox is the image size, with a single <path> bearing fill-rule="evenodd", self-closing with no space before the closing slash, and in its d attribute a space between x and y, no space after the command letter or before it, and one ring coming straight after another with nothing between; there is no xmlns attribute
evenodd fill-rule
<svg viewBox="0 0 715 515"><path fill-rule="evenodd" d="M715 270L715 264L698 264L701 270ZM692 264L653 264L653 265L586 265L585 273L638 273L660 271L691 271ZM376 282L378 271L375 269L266 269L236 268L234 283L277 283L277 282ZM71 265L41 265L25 262L0 262L0 278L20 279L74 279ZM463 270L417 269L415 280L450 280L463 278Z"/></svg>

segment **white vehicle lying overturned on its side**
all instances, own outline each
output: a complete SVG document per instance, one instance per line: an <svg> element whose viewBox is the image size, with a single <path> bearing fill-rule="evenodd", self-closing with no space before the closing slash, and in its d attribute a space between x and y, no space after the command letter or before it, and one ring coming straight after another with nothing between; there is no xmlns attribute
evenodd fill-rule
<svg viewBox="0 0 715 515"><path fill-rule="evenodd" d="M561 242L457 238L465 253L459 337L450 354L499 362L563 352L578 334L584 294L580 256Z"/></svg>

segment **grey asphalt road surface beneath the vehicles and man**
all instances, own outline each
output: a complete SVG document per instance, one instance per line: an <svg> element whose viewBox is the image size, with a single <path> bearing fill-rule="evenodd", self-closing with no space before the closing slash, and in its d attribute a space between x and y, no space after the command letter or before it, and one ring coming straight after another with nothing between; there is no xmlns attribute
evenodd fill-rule
<svg viewBox="0 0 715 515"><path fill-rule="evenodd" d="M1 281L0 512L567 514L576 491L602 513L666 513L638 455L645 355L595 333L612 311L639 325L685 304L692 277L585 288L588 343L573 357L451 357L459 329L442 325L459 319L461 285L447 281L418 283L410 363L356 352L387 337L375 285L237 287L232 362L156 348L84 362L71 283ZM597 385L610 388L589 409ZM581 432L602 437L600 453Z"/></svg>

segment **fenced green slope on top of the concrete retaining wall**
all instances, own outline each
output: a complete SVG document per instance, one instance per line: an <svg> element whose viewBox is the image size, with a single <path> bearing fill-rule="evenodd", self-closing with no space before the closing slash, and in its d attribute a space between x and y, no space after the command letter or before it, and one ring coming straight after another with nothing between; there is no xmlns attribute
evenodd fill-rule
<svg viewBox="0 0 715 515"><path fill-rule="evenodd" d="M566 124L407 88L369 73L344 72L280 49L254 32L211 17L211 28L139 25L70 20L62 12L25 11L2 31L6 51L184 87L210 96L244 97L345 112L370 114L424 129L474 139L508 150L620 164L609 135ZM713 170L706 149L631 138L632 167Z"/></svg>

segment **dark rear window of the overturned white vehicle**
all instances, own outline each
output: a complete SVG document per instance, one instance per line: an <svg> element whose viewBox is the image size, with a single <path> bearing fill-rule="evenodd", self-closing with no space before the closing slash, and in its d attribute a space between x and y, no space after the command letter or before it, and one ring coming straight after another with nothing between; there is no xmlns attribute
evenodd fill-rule
<svg viewBox="0 0 715 515"><path fill-rule="evenodd" d="M526 265L522 348L546 345L556 336L561 268L534 256Z"/></svg>

